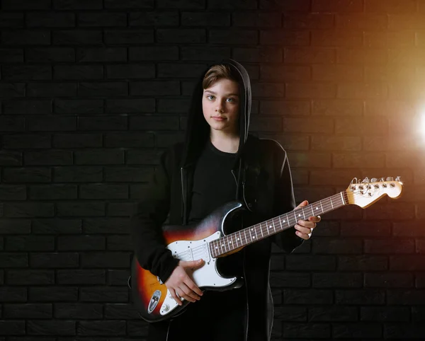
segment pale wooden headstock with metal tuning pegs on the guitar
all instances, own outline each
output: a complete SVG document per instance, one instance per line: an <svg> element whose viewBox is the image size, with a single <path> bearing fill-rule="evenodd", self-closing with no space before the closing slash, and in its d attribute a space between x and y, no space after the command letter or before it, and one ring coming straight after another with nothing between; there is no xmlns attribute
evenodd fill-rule
<svg viewBox="0 0 425 341"><path fill-rule="evenodd" d="M346 189L348 204L355 204L360 207L369 207L374 202L380 200L384 195L392 199L397 199L402 194L403 183L399 176L397 178L364 178L358 181L357 178L351 180L351 184Z"/></svg>

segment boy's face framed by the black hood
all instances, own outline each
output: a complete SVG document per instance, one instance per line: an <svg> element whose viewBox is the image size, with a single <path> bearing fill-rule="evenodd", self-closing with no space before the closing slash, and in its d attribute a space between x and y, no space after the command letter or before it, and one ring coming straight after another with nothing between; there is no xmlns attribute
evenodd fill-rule
<svg viewBox="0 0 425 341"><path fill-rule="evenodd" d="M202 110L211 129L238 134L238 83L229 79L219 79L212 83L203 91Z"/></svg>

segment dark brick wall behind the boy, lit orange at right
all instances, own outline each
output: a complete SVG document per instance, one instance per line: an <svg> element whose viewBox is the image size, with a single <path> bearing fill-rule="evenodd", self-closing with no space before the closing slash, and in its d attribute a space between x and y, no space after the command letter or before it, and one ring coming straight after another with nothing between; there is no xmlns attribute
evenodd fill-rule
<svg viewBox="0 0 425 341"><path fill-rule="evenodd" d="M273 250L273 340L425 338L424 0L1 0L0 28L0 341L144 340L128 217L224 57L298 201L405 183Z"/></svg>

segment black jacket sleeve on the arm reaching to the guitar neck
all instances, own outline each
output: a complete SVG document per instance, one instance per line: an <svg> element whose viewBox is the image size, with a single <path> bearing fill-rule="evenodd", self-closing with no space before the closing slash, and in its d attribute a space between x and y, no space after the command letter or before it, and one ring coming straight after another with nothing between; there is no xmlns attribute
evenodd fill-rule
<svg viewBox="0 0 425 341"><path fill-rule="evenodd" d="M278 144L278 143L277 143ZM277 177L275 190L275 207L273 216L285 214L295 209L295 197L293 190L292 176L290 166L285 150L278 144L280 149L280 171ZM276 244L286 253L292 253L295 248L300 246L304 239L295 234L295 227L290 227L274 236Z"/></svg>

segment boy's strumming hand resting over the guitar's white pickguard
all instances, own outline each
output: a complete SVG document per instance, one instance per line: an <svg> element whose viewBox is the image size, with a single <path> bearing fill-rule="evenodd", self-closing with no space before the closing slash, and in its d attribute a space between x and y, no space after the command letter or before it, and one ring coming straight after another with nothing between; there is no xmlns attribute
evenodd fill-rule
<svg viewBox="0 0 425 341"><path fill-rule="evenodd" d="M181 260L179 265L171 273L169 279L166 280L165 285L179 306L183 304L180 298L186 299L189 302L196 302L203 295L202 290L198 288L190 276L194 270L203 265L204 261L201 259L188 262Z"/></svg>

